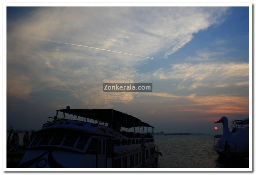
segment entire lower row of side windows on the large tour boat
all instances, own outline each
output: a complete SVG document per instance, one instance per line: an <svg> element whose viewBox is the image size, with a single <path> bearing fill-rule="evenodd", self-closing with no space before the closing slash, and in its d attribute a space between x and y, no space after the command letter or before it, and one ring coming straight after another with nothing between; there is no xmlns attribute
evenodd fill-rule
<svg viewBox="0 0 256 175"><path fill-rule="evenodd" d="M146 150L146 159L150 158L155 152L155 148ZM114 160L114 168L132 168L142 162L142 152Z"/></svg>

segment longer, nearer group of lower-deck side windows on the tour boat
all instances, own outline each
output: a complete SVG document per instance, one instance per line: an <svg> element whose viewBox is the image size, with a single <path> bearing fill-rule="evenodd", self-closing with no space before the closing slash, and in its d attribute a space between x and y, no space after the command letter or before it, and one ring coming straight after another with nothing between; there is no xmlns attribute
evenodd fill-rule
<svg viewBox="0 0 256 175"><path fill-rule="evenodd" d="M142 162L142 152L114 160L114 168L132 168Z"/></svg>

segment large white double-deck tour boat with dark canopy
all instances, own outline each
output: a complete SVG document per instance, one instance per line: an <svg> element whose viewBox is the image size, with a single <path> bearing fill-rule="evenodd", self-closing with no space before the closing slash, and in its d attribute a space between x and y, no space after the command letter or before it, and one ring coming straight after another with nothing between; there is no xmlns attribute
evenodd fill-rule
<svg viewBox="0 0 256 175"><path fill-rule="evenodd" d="M114 109L67 106L53 119L35 132L19 168L157 166L161 153L154 143L154 127L134 116Z"/></svg>

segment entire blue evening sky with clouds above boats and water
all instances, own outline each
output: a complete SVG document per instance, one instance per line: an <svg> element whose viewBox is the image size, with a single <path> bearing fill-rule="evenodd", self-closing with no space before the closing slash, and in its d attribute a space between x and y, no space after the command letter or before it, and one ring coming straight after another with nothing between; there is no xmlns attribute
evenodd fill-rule
<svg viewBox="0 0 256 175"><path fill-rule="evenodd" d="M103 92L104 82L153 92ZM14 129L39 130L69 105L115 109L155 132L221 133L222 116L249 117L249 7L7 7L6 103Z"/></svg>

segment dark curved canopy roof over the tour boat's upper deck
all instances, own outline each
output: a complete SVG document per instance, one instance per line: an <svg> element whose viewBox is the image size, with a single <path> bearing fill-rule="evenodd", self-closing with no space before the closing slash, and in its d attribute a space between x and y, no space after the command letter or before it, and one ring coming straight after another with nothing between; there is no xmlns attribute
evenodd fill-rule
<svg viewBox="0 0 256 175"><path fill-rule="evenodd" d="M99 120L108 124L110 124L113 119L115 122L120 122L121 127L126 128L138 126L154 128L132 115L128 115L114 109L59 109L57 110L57 114L58 112Z"/></svg>

